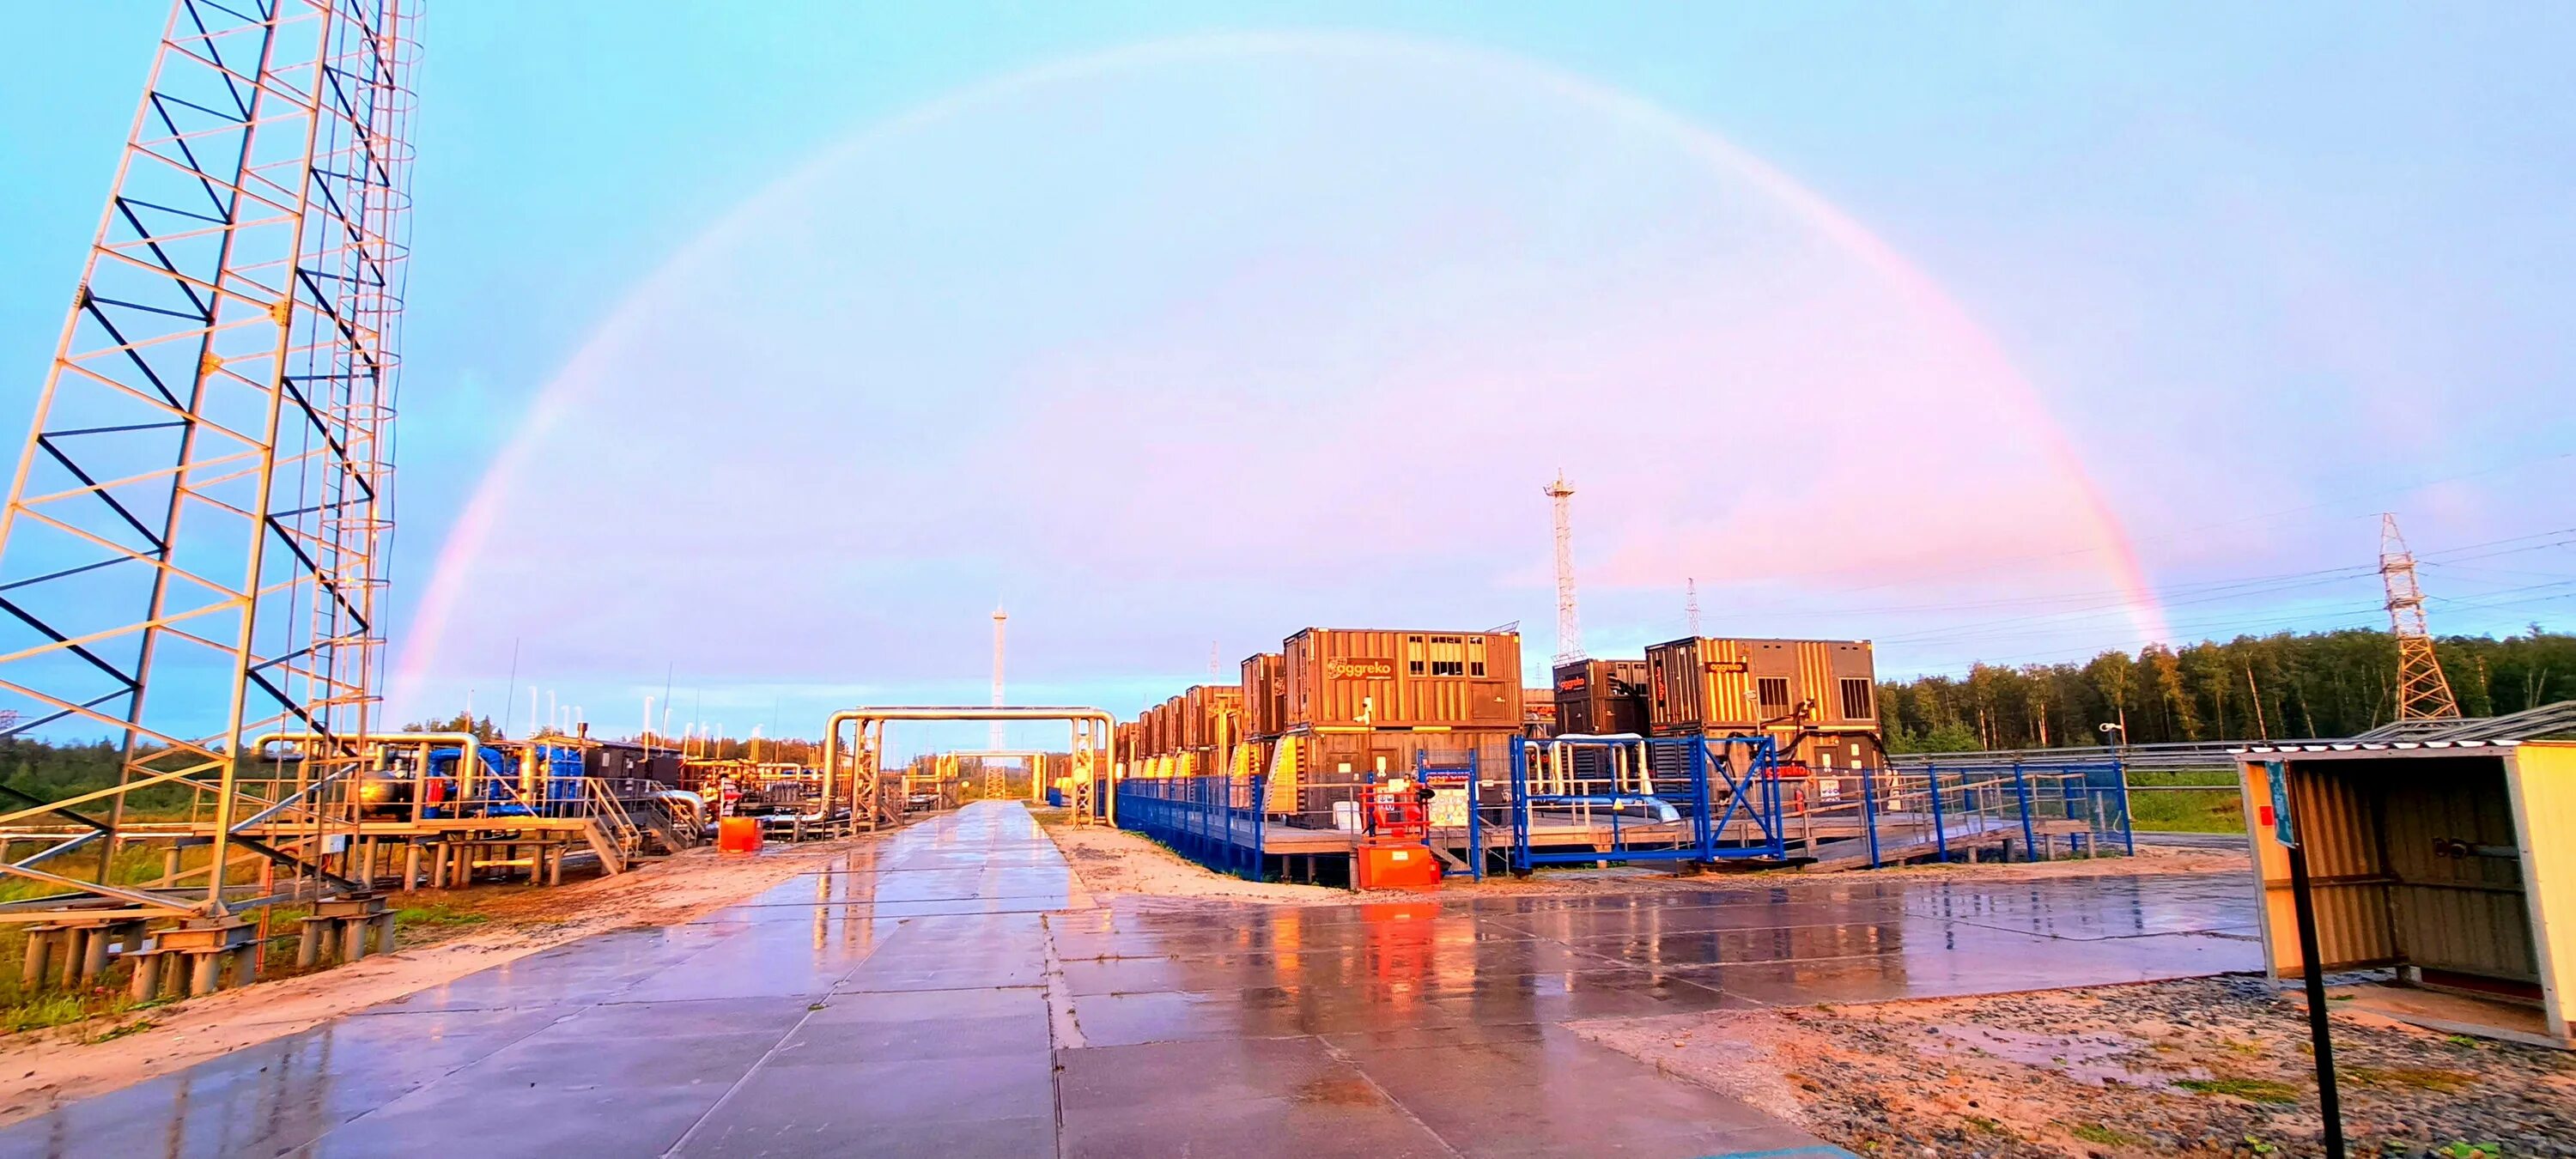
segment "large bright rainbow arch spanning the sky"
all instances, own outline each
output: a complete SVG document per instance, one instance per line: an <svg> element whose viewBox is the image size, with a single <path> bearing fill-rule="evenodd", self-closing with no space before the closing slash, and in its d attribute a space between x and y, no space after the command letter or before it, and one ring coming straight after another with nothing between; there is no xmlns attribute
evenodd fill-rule
<svg viewBox="0 0 2576 1159"><path fill-rule="evenodd" d="M412 616L410 631L404 634L404 649L399 664L394 667L392 701L397 708L412 708L422 683L438 670L438 649L448 626L453 623L459 605L464 603L466 577L474 561L489 549L492 528L518 476L533 461L546 435L556 433L574 412L582 410L587 399L587 386L600 376L592 373L605 358L605 350L618 348L626 337L636 335L644 319L652 314L652 304L665 294L677 288L680 270L698 260L726 252L737 240L750 237L762 219L773 216L786 206L791 191L806 183L811 175L848 162L853 155L863 155L884 142L902 134L922 131L948 121L958 113L976 111L981 106L997 103L1002 98L1023 95L1046 85L1064 85L1087 77L1103 77L1123 70L1139 70L1170 62L1208 62L1208 59L1249 59L1249 57L1301 57L1316 62L1404 62L1425 67L1468 70L1492 77L1497 85L1517 85L1522 90L1540 90L1561 100L1571 100L1589 111L1610 113L1636 129L1662 134L1682 147L1692 160L1705 165L1710 173L1736 178L1762 191L1821 237L1842 247L1878 278L1883 278L1909 306L1922 312L1940 332L1960 350L1989 381L1999 384L2004 402L2020 407L2035 425L2035 430L2050 433L2045 453L2050 464L2069 479L2079 495L2084 513L2089 513L2087 536L2094 541L2089 551L2099 551L2110 559L2115 582L2123 590L2125 610L2138 639L2166 639L2164 610L2156 600L2154 587L2146 582L2146 569L2138 561L2136 549L2128 541L2117 515L2102 500L2099 487L2094 487L2089 471L2084 471L2081 456L2074 443L2063 435L2061 425L2048 415L2048 407L2030 386L2030 381L2012 366L2012 358L2002 345L1986 335L1976 319L1960 309L1929 276L1924 276L1914 263L1899 255L1888 242L1865 229L1850 214L1824 201L1790 175L1780 173L1762 157L1736 147L1734 142L1682 118L1680 113L1656 106L1633 93L1623 93L1579 75L1492 49L1473 49L1443 41L1417 41L1381 33L1216 33L1216 36L1180 36L1149 44L1133 44L1123 49L1110 49L1100 54L1069 57L1061 62L1038 64L1023 72L984 80L935 100L914 106L891 118L876 121L853 137L840 139L829 149L817 152L806 165L796 167L786 178L770 183L765 191L734 206L732 214L719 219L703 234L680 247L670 260L665 260L641 286L636 286L611 317L582 343L580 353L538 391L538 399L518 425L510 443L495 456L492 466L484 471L459 515L456 525L448 531L446 543L430 572L428 590ZM2084 549L2079 549L2084 551Z"/></svg>

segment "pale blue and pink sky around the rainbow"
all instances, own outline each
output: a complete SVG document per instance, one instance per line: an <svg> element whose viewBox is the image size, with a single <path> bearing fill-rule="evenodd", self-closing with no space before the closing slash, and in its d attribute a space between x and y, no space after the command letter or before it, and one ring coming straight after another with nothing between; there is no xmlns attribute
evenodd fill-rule
<svg viewBox="0 0 2576 1159"><path fill-rule="evenodd" d="M44 46L0 77L0 399L21 410L162 15L15 15ZM1432 57L1118 64L848 152L997 77L1224 36ZM2540 536L2576 525L2563 8L446 3L425 41L404 618L484 469L585 350L616 381L531 446L507 505L523 523L500 531L652 536L680 561L647 572L698 582L600 600L587 567L459 574L420 706L536 683L618 729L636 708L603 706L659 693L667 667L703 719L809 731L796 721L853 698L979 698L997 598L1025 605L1028 701L1131 711L1203 677L1211 641L1231 672L1306 623L1396 616L1525 621L1535 667L1535 489L1566 458L1595 652L1680 636L1687 572L1710 631L1870 636L1899 672L2136 646L2138 618L2094 598L2123 577L2079 528L2084 502L2032 456L2048 428L2164 592L2164 634L2370 623L2375 577L2329 569L2370 561L2378 510L2447 554L2427 569L2450 600L2439 631L2571 608L2548 587L2576 577L2568 536ZM1687 134L1535 75L1811 191L1991 337L2045 425L2014 425L1991 373L1904 371L1945 361L1940 327L1747 170L1695 165ZM773 216L683 260L762 196ZM641 294L657 273L688 286ZM1347 309L1370 288L1383 301ZM1664 301L1674 317L1651 317ZM603 343L621 304L641 335ZM701 322L729 337L672 345ZM711 391L724 366L762 373ZM1842 391L1844 373L1873 386ZM1803 399L1798 420L1734 399L1739 379L1795 384L1772 391ZM1610 391L1613 420L1479 428L1504 466L1363 440L1352 464L1394 471L1386 507L1316 500L1301 543L1226 531L1275 497L1229 482L1247 461L1229 448L1316 407L1386 407L1430 446L1463 443L1443 399L1476 404L1468 381L1504 410ZM1909 391L1940 391L1929 410L1953 420L1888 420L1924 402ZM1066 399L1128 415L1103 438L1149 453L1033 469L1074 430L1074 410L1046 410ZM1012 440L997 415L1051 417ZM757 433L799 425L832 435L773 461ZM1659 435L1814 438L1832 479L1775 487L1803 471L1783 458L1705 482L1638 451ZM889 474L806 466L842 446ZM1314 464L1273 451L1278 474ZM634 461L654 471L585 489ZM1121 471L1170 482L1139 492ZM1139 500L1164 492L1203 507ZM1136 507L1072 543L1054 536L1082 513L1046 507L1072 497ZM814 546L811 520L855 531ZM2514 536L2532 538L2478 546ZM1309 567L1321 556L1342 564ZM2228 587L2246 577L2290 580Z"/></svg>

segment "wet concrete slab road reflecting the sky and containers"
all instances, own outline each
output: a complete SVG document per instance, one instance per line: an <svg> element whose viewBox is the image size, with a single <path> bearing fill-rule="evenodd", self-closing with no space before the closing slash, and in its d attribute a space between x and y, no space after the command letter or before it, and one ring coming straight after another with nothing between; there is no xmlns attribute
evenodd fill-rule
<svg viewBox="0 0 2576 1159"><path fill-rule="evenodd" d="M1020 806L0 1131L0 1156L1839 1154L1566 1020L2254 968L2233 881L1208 907Z"/></svg>

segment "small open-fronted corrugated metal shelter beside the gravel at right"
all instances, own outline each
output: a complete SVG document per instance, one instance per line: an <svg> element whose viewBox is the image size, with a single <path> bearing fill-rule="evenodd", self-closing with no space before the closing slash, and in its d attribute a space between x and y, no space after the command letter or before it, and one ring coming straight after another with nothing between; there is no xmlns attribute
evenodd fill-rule
<svg viewBox="0 0 2576 1159"><path fill-rule="evenodd" d="M2329 971L2393 968L2401 986L2476 997L2393 1017L2576 1046L2576 739L2524 737L2576 737L2576 703L2519 716L2236 749L2275 979L2303 974L2290 855L2272 832L2277 762Z"/></svg>

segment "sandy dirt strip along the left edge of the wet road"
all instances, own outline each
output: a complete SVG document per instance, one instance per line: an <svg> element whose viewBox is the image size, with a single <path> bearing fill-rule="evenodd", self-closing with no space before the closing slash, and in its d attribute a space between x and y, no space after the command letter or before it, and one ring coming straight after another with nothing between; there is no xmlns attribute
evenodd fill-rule
<svg viewBox="0 0 2576 1159"><path fill-rule="evenodd" d="M634 925L688 922L848 850L850 842L811 842L773 847L760 858L726 858L714 847L698 847L613 878L590 878L562 889L482 886L392 894L394 907L451 904L484 914L484 919L451 930L407 927L404 943L394 953L368 956L355 966L258 981L113 1020L100 1017L0 1038L0 1126L242 1046L291 1035L577 938ZM477 899L484 891L505 894Z"/></svg>

